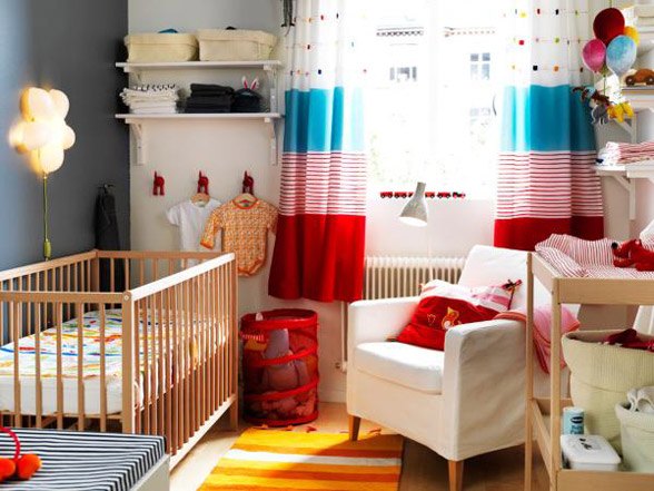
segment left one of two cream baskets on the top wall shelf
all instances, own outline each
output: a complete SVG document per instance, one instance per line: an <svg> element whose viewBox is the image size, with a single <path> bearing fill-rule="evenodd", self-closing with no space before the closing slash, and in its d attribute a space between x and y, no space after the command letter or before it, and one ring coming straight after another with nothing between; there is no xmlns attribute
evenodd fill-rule
<svg viewBox="0 0 654 491"><path fill-rule="evenodd" d="M128 59L132 63L195 61L198 40L194 35L130 35L125 38Z"/></svg>

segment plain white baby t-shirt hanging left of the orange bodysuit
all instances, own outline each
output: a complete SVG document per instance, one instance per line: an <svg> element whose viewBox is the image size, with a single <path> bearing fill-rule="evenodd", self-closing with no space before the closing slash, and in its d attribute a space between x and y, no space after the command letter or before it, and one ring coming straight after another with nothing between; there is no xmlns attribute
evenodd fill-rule
<svg viewBox="0 0 654 491"><path fill-rule="evenodd" d="M220 206L217 199L209 199L206 204L194 203L190 199L178 203L166 212L168 222L179 227L179 242L181 251L202 252L200 239L205 229L205 224L211 213ZM214 249L214 247L209 247ZM189 262L195 265L195 261Z"/></svg>

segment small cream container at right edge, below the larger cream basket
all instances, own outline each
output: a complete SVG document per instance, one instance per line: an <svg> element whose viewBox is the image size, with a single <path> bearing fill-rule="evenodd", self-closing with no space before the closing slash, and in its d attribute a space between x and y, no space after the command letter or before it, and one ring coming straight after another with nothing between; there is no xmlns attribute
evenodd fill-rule
<svg viewBox="0 0 654 491"><path fill-rule="evenodd" d="M628 405L628 404L625 404ZM622 456L627 471L654 472L654 414L615 406L620 420Z"/></svg>

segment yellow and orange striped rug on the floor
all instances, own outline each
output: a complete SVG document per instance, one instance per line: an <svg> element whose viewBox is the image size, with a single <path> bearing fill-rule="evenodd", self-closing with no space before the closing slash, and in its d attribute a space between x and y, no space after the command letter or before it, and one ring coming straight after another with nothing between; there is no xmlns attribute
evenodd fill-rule
<svg viewBox="0 0 654 491"><path fill-rule="evenodd" d="M396 491L402 470L402 436L246 431L220 459L205 483L208 490Z"/></svg>

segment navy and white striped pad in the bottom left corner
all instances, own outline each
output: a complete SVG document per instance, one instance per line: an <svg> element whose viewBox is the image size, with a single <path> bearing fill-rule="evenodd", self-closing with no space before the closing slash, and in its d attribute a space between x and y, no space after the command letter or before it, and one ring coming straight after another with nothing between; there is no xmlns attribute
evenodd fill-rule
<svg viewBox="0 0 654 491"><path fill-rule="evenodd" d="M164 456L162 436L16 429L21 453L43 461L29 481L6 481L4 490L128 491ZM0 434L0 455L13 456L13 440Z"/></svg>

